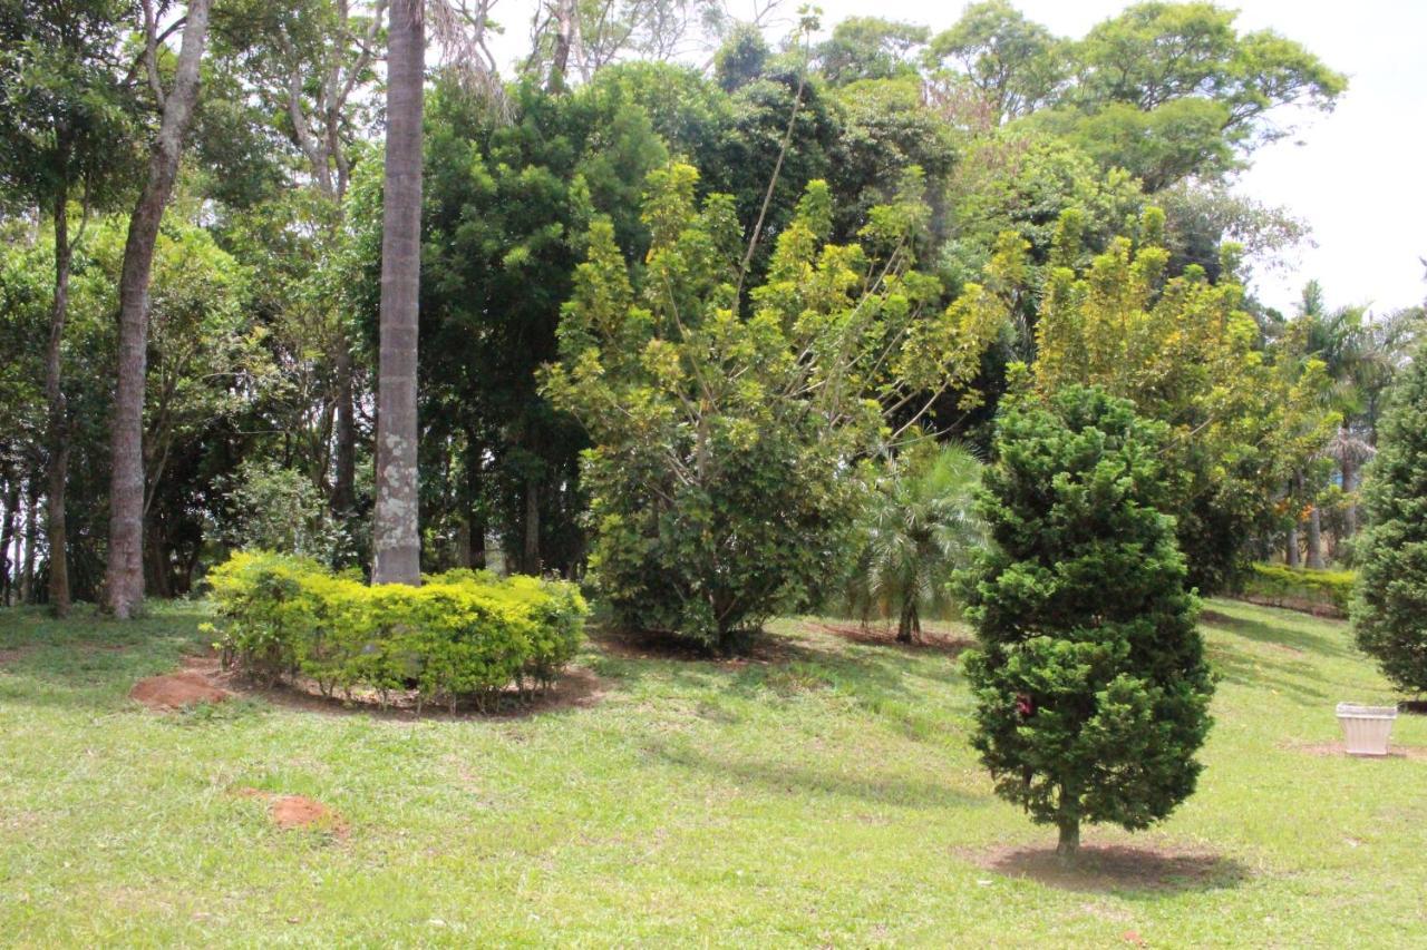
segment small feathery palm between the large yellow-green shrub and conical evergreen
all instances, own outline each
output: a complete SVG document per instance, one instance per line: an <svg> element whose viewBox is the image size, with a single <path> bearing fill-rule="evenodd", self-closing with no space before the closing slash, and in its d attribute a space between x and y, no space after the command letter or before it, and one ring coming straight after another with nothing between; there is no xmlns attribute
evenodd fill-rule
<svg viewBox="0 0 1427 950"><path fill-rule="evenodd" d="M898 615L896 639L915 643L922 609L946 605L952 572L982 541L973 495L980 462L965 448L925 444L878 479L859 525L849 599L863 623Z"/></svg>

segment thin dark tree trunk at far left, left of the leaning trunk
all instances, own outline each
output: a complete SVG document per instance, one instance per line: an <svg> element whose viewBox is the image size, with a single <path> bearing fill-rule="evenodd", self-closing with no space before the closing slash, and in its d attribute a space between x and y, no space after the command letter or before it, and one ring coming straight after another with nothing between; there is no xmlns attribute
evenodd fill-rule
<svg viewBox="0 0 1427 950"><path fill-rule="evenodd" d="M50 342L44 351L46 402L46 496L44 536L50 545L50 609L56 616L70 612L70 562L64 525L64 492L70 472L70 424L64 399L63 342L64 321L70 311L70 270L74 248L70 244L68 188L60 185L54 198L54 302L50 307Z"/></svg>

